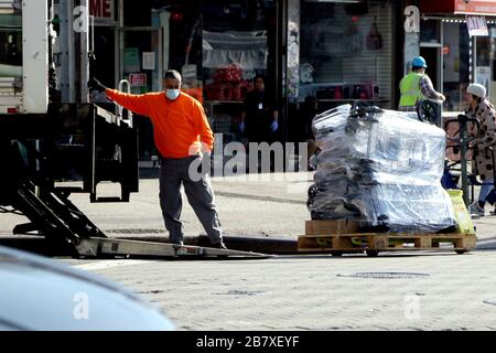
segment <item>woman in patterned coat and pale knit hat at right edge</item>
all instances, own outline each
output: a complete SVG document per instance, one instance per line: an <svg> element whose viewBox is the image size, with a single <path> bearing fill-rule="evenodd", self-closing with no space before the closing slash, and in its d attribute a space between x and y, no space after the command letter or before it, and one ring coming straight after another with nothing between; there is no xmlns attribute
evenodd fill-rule
<svg viewBox="0 0 496 353"><path fill-rule="evenodd" d="M470 135L475 137L473 143L475 156L475 160L472 162L473 173L478 175L483 183L478 201L471 205L470 212L473 215L484 216L487 196L492 192L494 193L495 165L490 149L496 150L496 114L493 104L486 98L486 88L483 85L468 85L466 88L466 100L468 101L468 108L465 114L468 118L476 118L481 124L479 129L472 126Z"/></svg>

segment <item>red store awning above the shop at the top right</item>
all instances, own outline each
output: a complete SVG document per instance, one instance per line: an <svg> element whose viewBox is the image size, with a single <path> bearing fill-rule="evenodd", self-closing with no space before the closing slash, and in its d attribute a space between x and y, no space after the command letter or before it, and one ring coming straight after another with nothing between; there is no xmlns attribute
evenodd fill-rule
<svg viewBox="0 0 496 353"><path fill-rule="evenodd" d="M496 15L495 0L420 0L422 13Z"/></svg>

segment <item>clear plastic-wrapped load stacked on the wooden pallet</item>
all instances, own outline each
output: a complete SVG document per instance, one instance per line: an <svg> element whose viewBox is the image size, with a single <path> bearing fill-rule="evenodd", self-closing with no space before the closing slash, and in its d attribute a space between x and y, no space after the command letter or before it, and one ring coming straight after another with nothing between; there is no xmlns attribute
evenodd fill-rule
<svg viewBox="0 0 496 353"><path fill-rule="evenodd" d="M348 218L391 232L456 224L441 186L445 132L416 115L343 105L314 118L321 152L308 206L313 220Z"/></svg>

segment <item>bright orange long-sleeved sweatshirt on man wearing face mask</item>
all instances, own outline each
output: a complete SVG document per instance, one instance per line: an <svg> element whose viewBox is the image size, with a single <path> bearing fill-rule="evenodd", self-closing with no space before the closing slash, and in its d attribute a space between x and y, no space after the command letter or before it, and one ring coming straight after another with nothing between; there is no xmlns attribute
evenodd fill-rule
<svg viewBox="0 0 496 353"><path fill-rule="evenodd" d="M170 100L164 92L131 95L107 88L107 97L139 115L150 117L154 140L164 158L184 158L214 147L214 133L202 104L182 92Z"/></svg>

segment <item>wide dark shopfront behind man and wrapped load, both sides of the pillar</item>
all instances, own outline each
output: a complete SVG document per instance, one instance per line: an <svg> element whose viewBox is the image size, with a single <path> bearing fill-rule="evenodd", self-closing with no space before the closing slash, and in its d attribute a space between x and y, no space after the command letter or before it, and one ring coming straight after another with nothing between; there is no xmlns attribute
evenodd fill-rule
<svg viewBox="0 0 496 353"><path fill-rule="evenodd" d="M309 97L320 111L353 99L386 108L397 100L396 1L91 0L89 8L96 77L116 87L128 79L132 93L145 93L177 69L225 141L242 139L242 101L256 75L279 110L282 141L299 139ZM152 127L136 121L148 158Z"/></svg>

